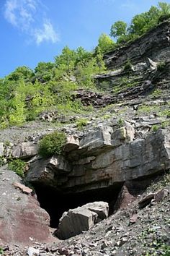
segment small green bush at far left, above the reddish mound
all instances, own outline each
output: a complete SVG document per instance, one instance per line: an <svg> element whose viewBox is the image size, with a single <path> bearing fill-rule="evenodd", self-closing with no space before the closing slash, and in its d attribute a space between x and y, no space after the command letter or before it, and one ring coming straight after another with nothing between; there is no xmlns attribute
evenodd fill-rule
<svg viewBox="0 0 170 256"><path fill-rule="evenodd" d="M14 171L19 176L24 176L24 170L26 168L27 163L22 161L21 159L14 159L9 162L9 170Z"/></svg>

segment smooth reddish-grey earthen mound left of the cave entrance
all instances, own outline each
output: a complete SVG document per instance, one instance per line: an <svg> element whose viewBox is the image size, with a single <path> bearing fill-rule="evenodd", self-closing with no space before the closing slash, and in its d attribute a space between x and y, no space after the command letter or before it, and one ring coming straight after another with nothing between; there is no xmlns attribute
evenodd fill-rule
<svg viewBox="0 0 170 256"><path fill-rule="evenodd" d="M1 168L0 173L0 244L48 242L50 217L36 198L23 194L14 183L17 174ZM29 191L29 190L28 190Z"/></svg>

